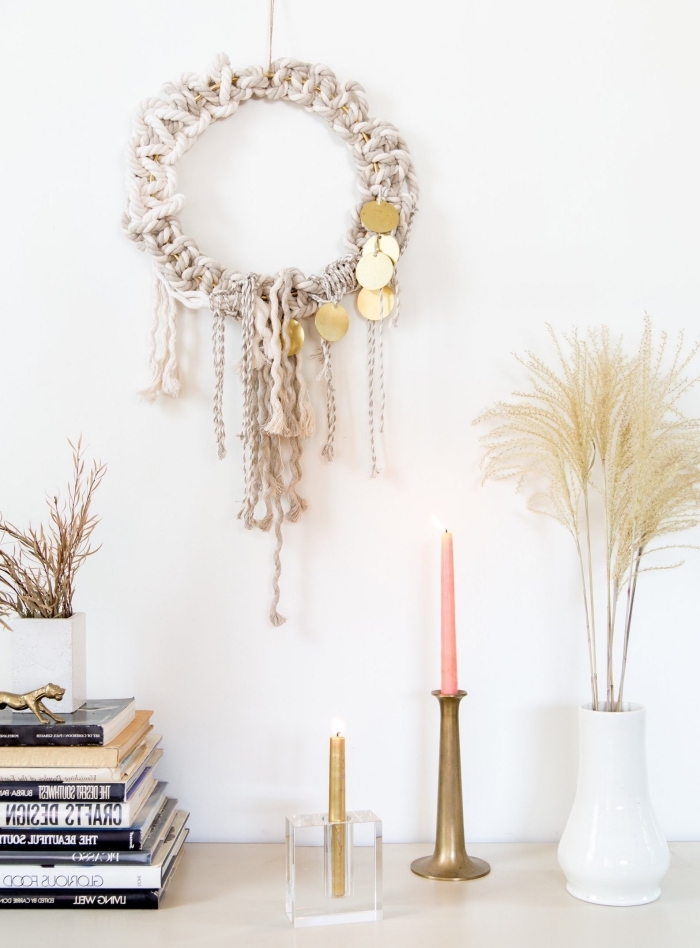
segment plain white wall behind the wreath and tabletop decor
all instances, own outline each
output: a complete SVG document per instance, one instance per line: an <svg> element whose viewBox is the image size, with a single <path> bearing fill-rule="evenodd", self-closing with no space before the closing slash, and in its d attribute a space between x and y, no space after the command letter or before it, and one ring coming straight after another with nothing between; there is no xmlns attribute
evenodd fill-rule
<svg viewBox="0 0 700 948"><path fill-rule="evenodd" d="M324 807L332 715L348 722L348 802L389 840L434 827L439 683L436 513L455 534L468 835L561 833L587 699L575 563L511 485L482 487L471 419L522 380L511 352L544 324L697 334L700 15L691 0L278 0L275 55L326 62L409 142L422 202L387 340L387 464L368 477L365 332L334 350L338 459L305 455L286 532L281 629L271 538L236 519L211 425L210 316L185 313L185 392L150 405L151 281L124 239L124 145L137 103L225 49L262 62L267 4L0 5L0 504L42 514L66 437L109 464L103 549L80 576L89 691L155 709L162 770L199 840L274 840ZM248 104L181 163L184 222L243 270L313 272L342 250L354 177L323 123ZM237 358L230 327L229 359ZM309 377L314 364L307 362ZM694 410L700 409L700 393ZM697 541L698 537L693 538ZM649 709L667 834L700 834L697 555L645 583L628 695ZM3 664L7 680L7 633Z"/></svg>

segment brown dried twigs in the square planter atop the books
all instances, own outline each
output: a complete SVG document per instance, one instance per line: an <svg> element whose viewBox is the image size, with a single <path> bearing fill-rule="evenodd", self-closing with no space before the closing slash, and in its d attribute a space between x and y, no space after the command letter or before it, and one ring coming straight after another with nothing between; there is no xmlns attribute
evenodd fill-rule
<svg viewBox="0 0 700 948"><path fill-rule="evenodd" d="M58 495L47 497L48 523L22 531L0 515L0 617L13 613L25 619L71 616L76 573L99 549L91 545L98 519L90 507L106 467L93 461L86 469L82 439L75 445L68 443L73 452L73 479L65 500ZM11 549L6 548L8 541Z"/></svg>

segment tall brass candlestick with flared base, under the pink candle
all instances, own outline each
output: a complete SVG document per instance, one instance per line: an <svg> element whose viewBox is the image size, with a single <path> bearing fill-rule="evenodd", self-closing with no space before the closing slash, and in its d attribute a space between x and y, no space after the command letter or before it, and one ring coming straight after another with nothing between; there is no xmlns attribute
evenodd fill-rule
<svg viewBox="0 0 700 948"><path fill-rule="evenodd" d="M435 852L411 863L416 875L426 879L463 882L478 879L491 871L483 859L467 855L464 845L462 810L462 764L459 753L459 702L466 691L456 695L432 694L440 702L440 771L438 777L438 823Z"/></svg>

